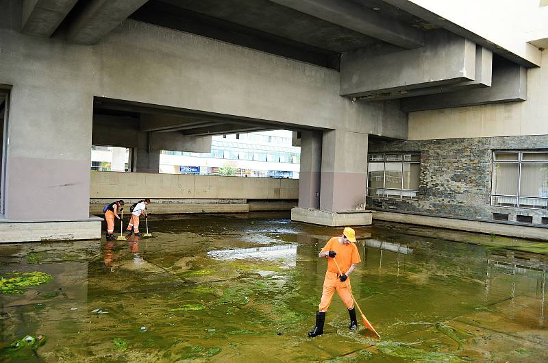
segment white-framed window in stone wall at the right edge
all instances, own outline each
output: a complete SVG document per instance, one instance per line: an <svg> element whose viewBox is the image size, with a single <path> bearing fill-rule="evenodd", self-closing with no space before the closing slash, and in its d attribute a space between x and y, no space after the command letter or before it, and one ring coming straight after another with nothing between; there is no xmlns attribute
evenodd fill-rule
<svg viewBox="0 0 548 363"><path fill-rule="evenodd" d="M548 151L495 151L491 205L548 209Z"/></svg>

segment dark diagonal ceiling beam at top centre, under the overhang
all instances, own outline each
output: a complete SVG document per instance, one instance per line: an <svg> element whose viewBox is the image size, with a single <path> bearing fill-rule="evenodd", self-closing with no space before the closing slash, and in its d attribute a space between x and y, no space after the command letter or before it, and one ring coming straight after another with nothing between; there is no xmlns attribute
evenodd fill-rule
<svg viewBox="0 0 548 363"><path fill-rule="evenodd" d="M355 32L398 47L414 49L424 45L424 33L395 19L347 0L271 0L273 3L321 18Z"/></svg>

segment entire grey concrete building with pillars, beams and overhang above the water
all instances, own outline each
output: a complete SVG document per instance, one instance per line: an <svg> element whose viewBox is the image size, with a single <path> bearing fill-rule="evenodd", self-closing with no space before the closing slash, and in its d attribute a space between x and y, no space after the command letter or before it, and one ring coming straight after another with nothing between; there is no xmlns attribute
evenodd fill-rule
<svg viewBox="0 0 548 363"><path fill-rule="evenodd" d="M368 208L548 238L545 1L0 9L2 241L98 238L97 195L287 196L289 184L158 174L160 150L209 152L211 136L265 129L301 146L297 221L366 224ZM90 172L92 145L131 148L134 173Z"/></svg>

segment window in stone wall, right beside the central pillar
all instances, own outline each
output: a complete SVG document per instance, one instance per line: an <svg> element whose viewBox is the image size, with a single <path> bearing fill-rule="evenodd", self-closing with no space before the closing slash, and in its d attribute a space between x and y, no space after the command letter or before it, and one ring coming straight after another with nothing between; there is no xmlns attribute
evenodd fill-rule
<svg viewBox="0 0 548 363"><path fill-rule="evenodd" d="M367 196L414 199L419 191L419 153L369 154Z"/></svg>

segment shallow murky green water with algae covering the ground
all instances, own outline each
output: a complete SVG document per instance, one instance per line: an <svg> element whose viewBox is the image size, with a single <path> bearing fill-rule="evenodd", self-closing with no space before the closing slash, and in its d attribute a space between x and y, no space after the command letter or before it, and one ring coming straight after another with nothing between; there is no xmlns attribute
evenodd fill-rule
<svg viewBox="0 0 548 363"><path fill-rule="evenodd" d="M348 331L337 296L311 339L317 253L340 229L286 218L172 216L149 221L153 238L0 245L0 360L548 361L548 244L358 228L353 293L382 340L359 315Z"/></svg>

